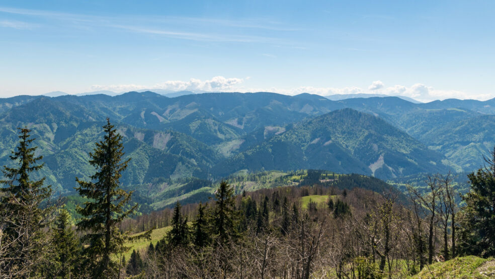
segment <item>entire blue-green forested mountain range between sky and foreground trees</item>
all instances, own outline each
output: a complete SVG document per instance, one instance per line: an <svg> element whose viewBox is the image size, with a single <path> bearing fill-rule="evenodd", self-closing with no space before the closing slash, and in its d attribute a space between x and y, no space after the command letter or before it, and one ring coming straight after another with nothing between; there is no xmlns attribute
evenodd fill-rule
<svg viewBox="0 0 495 279"><path fill-rule="evenodd" d="M332 101L268 92L171 98L149 91L17 96L0 99L0 164L11 163L16 128L28 126L45 157L42 175L71 191L75 176L93 171L88 153L109 117L132 158L123 183L135 187L241 170L324 169L382 179L472 171L495 144L494 114L493 99Z"/></svg>

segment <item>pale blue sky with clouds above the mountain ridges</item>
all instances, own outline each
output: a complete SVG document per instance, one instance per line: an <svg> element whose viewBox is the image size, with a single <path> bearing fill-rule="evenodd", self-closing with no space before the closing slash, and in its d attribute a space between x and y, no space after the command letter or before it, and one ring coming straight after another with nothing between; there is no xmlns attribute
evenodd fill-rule
<svg viewBox="0 0 495 279"><path fill-rule="evenodd" d="M495 1L0 1L0 97L495 97Z"/></svg>

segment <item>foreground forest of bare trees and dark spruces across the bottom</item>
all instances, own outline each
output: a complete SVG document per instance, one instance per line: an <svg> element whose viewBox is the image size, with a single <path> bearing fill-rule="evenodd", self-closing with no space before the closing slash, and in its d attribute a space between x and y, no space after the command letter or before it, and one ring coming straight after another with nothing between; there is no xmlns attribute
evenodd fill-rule
<svg viewBox="0 0 495 279"><path fill-rule="evenodd" d="M0 181L0 277L429 278L438 263L468 259L473 269L460 264L454 269L467 273L455 274L470 277L485 263L491 269L477 275L495 274L495 150L462 195L452 174L399 192L362 175L339 184L335 173L310 170L298 186L241 193L222 180L206 203L137 216L133 191L119 181L132 159L109 119L103 130L90 153L95 173L75 178L84 203L74 219L34 178L43 158L30 129L19 129L15 164ZM146 245L133 249L136 242Z"/></svg>

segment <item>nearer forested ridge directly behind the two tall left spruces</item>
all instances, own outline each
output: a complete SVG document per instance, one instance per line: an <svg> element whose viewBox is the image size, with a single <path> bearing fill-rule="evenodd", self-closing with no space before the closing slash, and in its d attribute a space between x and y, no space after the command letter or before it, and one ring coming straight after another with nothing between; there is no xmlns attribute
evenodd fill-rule
<svg viewBox="0 0 495 279"><path fill-rule="evenodd" d="M11 151L17 145L18 126L32 129L43 155L45 168L40 175L47 177L57 192L72 191L75 177L87 179L93 172L88 154L102 139L103 116L91 116L85 108L63 104L54 99L40 98L15 107L0 115L0 164L9 165ZM156 178L206 177L207 170L220 159L213 149L174 131L140 129L117 125L124 136L126 158L132 158L124 185L141 185Z"/></svg>

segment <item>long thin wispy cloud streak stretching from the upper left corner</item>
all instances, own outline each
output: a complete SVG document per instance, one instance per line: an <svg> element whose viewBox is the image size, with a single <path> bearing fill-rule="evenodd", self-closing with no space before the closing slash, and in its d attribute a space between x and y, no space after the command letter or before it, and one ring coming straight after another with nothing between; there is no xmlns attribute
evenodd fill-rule
<svg viewBox="0 0 495 279"><path fill-rule="evenodd" d="M223 20L209 18L189 18L189 17L158 17L158 16L92 16L84 14L63 13L45 10L29 10L0 7L0 13L31 16L45 18L50 21L75 22L79 29L89 28L110 28L120 29L127 32L139 34L152 34L168 38L210 41L210 42L236 42L236 43L266 43L291 45L291 43L271 36L275 32L299 31L297 28L288 28L280 23L273 23L263 20ZM132 24L129 24L132 22ZM64 25L60 25L64 26ZM198 30L220 30L216 33L209 31L198 32ZM267 36L258 36L256 30L269 30ZM188 30L194 30L193 32Z"/></svg>

